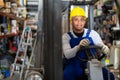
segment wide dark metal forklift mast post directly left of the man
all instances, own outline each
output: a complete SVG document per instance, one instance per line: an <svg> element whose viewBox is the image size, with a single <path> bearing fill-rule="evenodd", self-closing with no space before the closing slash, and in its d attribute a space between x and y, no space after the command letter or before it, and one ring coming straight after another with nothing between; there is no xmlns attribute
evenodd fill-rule
<svg viewBox="0 0 120 80"><path fill-rule="evenodd" d="M44 80L62 80L61 1L43 0Z"/></svg>

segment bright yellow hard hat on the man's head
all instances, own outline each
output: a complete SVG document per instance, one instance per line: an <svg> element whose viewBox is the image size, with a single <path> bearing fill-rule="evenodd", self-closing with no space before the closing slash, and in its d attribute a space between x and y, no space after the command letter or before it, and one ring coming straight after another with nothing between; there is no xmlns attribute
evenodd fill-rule
<svg viewBox="0 0 120 80"><path fill-rule="evenodd" d="M73 8L72 11L70 12L70 20L72 20L72 17L75 17L75 16L86 17L84 9L78 6Z"/></svg>

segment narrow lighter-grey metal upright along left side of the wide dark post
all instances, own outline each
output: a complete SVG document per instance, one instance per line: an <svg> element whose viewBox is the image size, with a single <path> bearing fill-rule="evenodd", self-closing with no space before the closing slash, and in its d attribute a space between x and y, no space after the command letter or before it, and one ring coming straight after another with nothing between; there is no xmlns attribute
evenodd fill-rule
<svg viewBox="0 0 120 80"><path fill-rule="evenodd" d="M38 5L38 29L37 29L37 42L35 47L35 67L40 68L43 65L43 0L39 0Z"/></svg>

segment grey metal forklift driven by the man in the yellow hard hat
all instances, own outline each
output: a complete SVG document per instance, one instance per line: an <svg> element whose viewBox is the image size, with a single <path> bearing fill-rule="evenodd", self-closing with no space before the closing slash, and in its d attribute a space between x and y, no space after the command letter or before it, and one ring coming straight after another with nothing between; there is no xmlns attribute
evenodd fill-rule
<svg viewBox="0 0 120 80"><path fill-rule="evenodd" d="M34 69L24 80L63 80L63 59L62 59L62 27L61 16L71 4L90 4L90 12L93 13L93 5L98 0L83 1L82 3L66 0L39 0L38 29L35 47L35 68L42 68L42 73ZM118 12L120 11L120 2L115 0ZM66 4L67 5L66 5ZM62 5L61 5L62 4ZM120 13L118 13L120 21ZM93 29L93 14L89 16L89 25ZM120 22L119 22L120 24ZM97 60L91 60L98 62ZM89 67L93 67L91 61ZM89 68L91 71L93 68ZM97 72L97 70L96 70ZM93 72L89 72L92 74ZM90 75L89 74L89 75ZM101 74L101 71L100 71ZM37 78L35 78L37 75ZM92 76L92 75L90 75ZM102 76L102 75L101 75ZM100 76L100 77L101 77ZM92 76L93 77L93 76ZM33 79L32 79L33 78ZM91 77L90 77L91 78ZM15 79L14 79L15 80ZM89 80L93 80L92 78ZM94 79L95 80L95 79ZM101 79L103 80L103 79Z"/></svg>

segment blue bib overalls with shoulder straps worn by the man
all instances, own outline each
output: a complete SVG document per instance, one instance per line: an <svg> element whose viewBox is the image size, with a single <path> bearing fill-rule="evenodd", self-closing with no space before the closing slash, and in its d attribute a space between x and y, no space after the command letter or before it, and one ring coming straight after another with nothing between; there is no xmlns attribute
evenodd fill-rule
<svg viewBox="0 0 120 80"><path fill-rule="evenodd" d="M88 30L86 33L86 36L84 37L74 37L73 34L71 32L68 32L68 35L70 36L70 46L71 48L74 48L75 46L78 46L80 44L80 41L83 39L89 39L89 41L91 42L91 45L93 44L92 39L90 39L91 37L89 37L91 30ZM81 60L79 60L78 56L81 59L85 59L87 60L87 55L85 54L84 50L79 50L76 53L75 57L69 58L66 60L66 65L64 67L64 79L63 80L87 80L87 76L86 74L84 74L84 69L86 69L86 64L87 62L84 61L82 62Z"/></svg>

